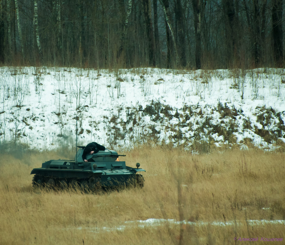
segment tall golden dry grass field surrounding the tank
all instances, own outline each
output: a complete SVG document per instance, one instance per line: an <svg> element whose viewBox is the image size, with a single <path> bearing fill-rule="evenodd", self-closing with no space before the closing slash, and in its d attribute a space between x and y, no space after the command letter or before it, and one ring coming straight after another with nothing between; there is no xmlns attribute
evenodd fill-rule
<svg viewBox="0 0 285 245"><path fill-rule="evenodd" d="M0 244L245 244L234 237L258 237L254 244L283 238L278 244L284 244L284 222L275 222L285 220L284 153L192 155L167 147L123 153L127 165L146 169L144 188L98 194L32 188L33 168L74 159L72 152L2 153ZM166 221L137 222L151 218Z"/></svg>

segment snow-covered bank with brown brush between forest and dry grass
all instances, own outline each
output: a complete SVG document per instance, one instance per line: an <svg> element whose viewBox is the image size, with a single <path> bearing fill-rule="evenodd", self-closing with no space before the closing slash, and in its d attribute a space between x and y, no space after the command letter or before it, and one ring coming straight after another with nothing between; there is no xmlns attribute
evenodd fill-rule
<svg viewBox="0 0 285 245"><path fill-rule="evenodd" d="M0 140L74 146L77 124L78 145L276 149L285 142L284 98L285 69L1 67Z"/></svg>

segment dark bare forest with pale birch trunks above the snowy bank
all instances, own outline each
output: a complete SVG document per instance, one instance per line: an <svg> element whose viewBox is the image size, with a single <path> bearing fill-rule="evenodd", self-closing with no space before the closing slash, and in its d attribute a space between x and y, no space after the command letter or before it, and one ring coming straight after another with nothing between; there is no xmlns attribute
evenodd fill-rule
<svg viewBox="0 0 285 245"><path fill-rule="evenodd" d="M0 0L0 63L283 66L282 0Z"/></svg>

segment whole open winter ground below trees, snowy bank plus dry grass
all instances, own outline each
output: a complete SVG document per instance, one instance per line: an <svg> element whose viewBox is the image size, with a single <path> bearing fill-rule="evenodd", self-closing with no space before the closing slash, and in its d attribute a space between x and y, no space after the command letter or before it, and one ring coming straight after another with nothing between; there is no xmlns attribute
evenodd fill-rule
<svg viewBox="0 0 285 245"><path fill-rule="evenodd" d="M284 69L1 67L0 244L284 243L284 98ZM74 159L76 128L145 186L33 189L33 168Z"/></svg>

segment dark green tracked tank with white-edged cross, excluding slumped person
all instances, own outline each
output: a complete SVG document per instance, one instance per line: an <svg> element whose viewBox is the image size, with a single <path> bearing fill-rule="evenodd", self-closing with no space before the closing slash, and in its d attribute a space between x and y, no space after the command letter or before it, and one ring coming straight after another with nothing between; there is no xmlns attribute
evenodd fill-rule
<svg viewBox="0 0 285 245"><path fill-rule="evenodd" d="M88 162L85 162L83 149L79 147L74 160L50 160L42 163L41 168L33 169L33 186L84 191L144 186L144 178L138 173L145 170L139 168L139 163L136 168L128 167L125 161L119 161L125 155L109 149L87 154Z"/></svg>

